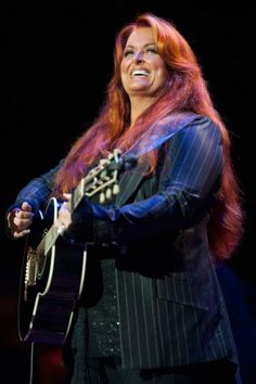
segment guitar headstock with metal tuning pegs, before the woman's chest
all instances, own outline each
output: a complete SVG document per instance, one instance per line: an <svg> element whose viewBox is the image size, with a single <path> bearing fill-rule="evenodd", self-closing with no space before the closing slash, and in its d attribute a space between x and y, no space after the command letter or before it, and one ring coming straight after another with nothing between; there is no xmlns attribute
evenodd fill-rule
<svg viewBox="0 0 256 384"><path fill-rule="evenodd" d="M100 203L103 204L113 195L118 194L119 172L131 169L136 164L135 157L121 156L120 150L115 149L107 157L102 158L73 191L73 209L77 207L85 195L91 197L100 193Z"/></svg>

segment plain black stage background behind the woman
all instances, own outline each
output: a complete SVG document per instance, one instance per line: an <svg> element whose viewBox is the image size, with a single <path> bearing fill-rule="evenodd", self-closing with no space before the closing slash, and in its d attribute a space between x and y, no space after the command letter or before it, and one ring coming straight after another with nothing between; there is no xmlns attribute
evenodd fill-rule
<svg viewBox="0 0 256 384"><path fill-rule="evenodd" d="M231 131L245 234L219 268L244 384L255 383L255 17L253 2L103 1L0 5L0 348L3 384L28 383L29 347L16 329L22 242L4 234L18 190L54 166L92 123L113 68L115 34L140 12L169 18L192 46ZM11 369L7 364L11 363ZM2 379L1 379L2 377ZM55 380L55 383L57 381ZM48 381L49 384L49 381Z"/></svg>

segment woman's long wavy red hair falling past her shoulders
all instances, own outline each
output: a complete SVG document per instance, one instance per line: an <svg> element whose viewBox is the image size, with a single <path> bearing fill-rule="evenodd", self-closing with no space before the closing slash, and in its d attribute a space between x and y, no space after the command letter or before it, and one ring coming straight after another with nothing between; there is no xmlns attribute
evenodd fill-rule
<svg viewBox="0 0 256 384"><path fill-rule="evenodd" d="M158 53L169 71L169 80L159 99L130 125L130 103L120 80L120 62L126 41L138 27L151 27ZM208 223L209 248L216 260L229 258L243 233L241 193L231 163L229 132L215 110L197 60L171 22L151 13L139 15L116 36L114 74L107 85L102 110L90 129L76 141L56 176L55 192L61 194L77 185L88 168L113 148L128 150L149 127L166 115L191 111L208 116L222 135L225 169L217 201ZM151 171L157 154L148 154Z"/></svg>

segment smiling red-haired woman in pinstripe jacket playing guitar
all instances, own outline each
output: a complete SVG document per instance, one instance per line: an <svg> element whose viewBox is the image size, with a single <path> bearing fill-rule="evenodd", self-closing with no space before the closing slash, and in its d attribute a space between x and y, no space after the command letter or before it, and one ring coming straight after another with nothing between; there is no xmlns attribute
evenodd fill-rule
<svg viewBox="0 0 256 384"><path fill-rule="evenodd" d="M215 272L243 227L229 132L168 21L138 16L117 35L114 59L99 117L64 162L18 193L10 232L28 233L57 196L64 238L87 244L85 294L66 345L73 384L239 383ZM115 148L138 159L119 174L119 193L104 204L85 196L74 209L72 192Z"/></svg>

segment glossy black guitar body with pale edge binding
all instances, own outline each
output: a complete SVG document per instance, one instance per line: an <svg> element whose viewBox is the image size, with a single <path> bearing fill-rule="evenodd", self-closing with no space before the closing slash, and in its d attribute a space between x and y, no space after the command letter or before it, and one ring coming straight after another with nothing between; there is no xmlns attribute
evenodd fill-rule
<svg viewBox="0 0 256 384"><path fill-rule="evenodd" d="M85 245L69 244L59 235L50 249L44 252L44 236L50 226L54 225L56 215L57 202L52 199L44 219L27 236L18 300L18 333L22 341L62 345L82 290L87 256ZM39 230L40 227L43 230ZM43 233L42 236L40 233ZM42 246L36 248L40 236Z"/></svg>

